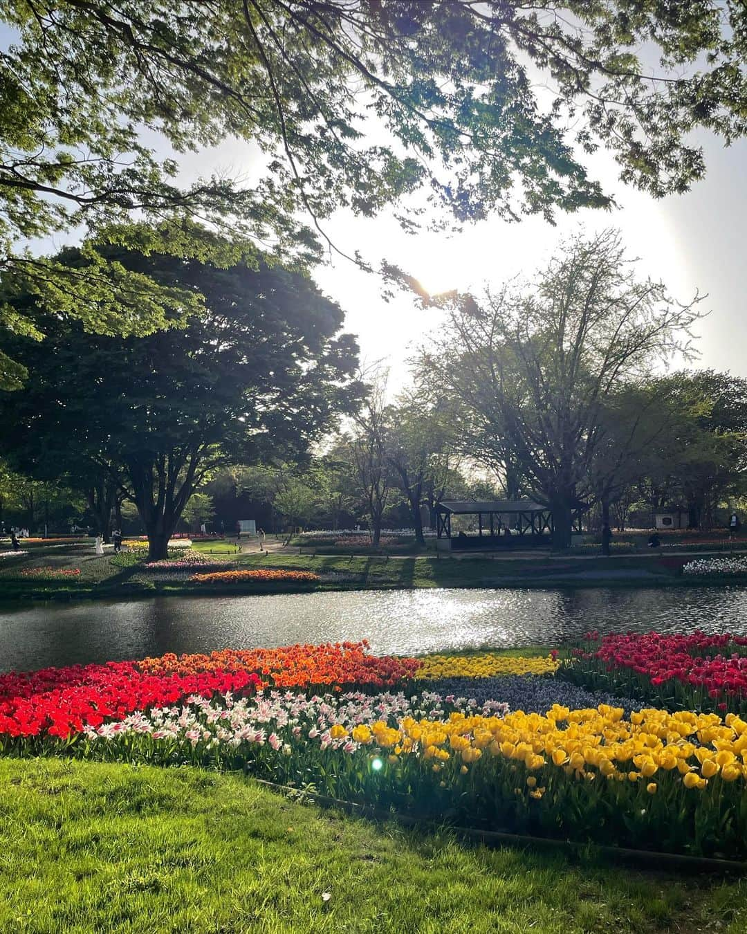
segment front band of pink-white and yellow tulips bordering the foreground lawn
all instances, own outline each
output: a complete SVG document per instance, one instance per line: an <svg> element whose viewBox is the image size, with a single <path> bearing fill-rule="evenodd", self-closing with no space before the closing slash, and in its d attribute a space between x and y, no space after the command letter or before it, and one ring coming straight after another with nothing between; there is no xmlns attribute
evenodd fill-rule
<svg viewBox="0 0 747 934"><path fill-rule="evenodd" d="M561 839L743 856L747 722L620 708L480 713L428 692L195 693L81 730L74 755L241 768L406 814ZM676 815L676 819L672 819Z"/></svg>

